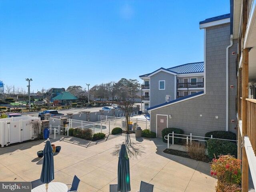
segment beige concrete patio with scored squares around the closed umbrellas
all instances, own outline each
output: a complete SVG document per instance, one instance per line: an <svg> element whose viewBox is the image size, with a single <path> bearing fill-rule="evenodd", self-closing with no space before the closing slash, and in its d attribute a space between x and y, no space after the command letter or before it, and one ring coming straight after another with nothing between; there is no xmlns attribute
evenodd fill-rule
<svg viewBox="0 0 256 192"><path fill-rule="evenodd" d="M104 141L59 136L51 142L61 146L54 156L54 182L71 183L80 178L79 192L109 192L117 184L118 152L127 143L130 157L131 191L140 189L140 181L154 184L154 192L214 192L216 179L210 176L210 164L165 154L167 144L161 138L146 139L109 135ZM42 159L36 152L45 141L37 140L0 148L0 181L32 181L40 178Z"/></svg>

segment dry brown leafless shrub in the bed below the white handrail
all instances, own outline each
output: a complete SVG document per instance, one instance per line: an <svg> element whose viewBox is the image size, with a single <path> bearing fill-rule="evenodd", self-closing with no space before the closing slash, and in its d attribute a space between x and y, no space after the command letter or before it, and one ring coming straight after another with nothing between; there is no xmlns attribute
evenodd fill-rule
<svg viewBox="0 0 256 192"><path fill-rule="evenodd" d="M192 159L204 160L206 148L200 142L192 141L184 146L184 149Z"/></svg>

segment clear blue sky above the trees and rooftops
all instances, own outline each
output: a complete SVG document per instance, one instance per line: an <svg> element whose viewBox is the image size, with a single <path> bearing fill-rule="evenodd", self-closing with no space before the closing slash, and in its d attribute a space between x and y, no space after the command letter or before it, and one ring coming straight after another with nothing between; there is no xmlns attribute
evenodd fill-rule
<svg viewBox="0 0 256 192"><path fill-rule="evenodd" d="M140 80L203 61L199 22L226 13L229 0L0 0L0 80L32 78L34 92Z"/></svg>

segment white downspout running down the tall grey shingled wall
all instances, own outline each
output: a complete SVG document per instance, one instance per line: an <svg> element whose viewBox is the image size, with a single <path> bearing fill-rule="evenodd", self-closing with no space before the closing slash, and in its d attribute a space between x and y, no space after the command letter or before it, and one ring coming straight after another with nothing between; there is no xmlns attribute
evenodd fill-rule
<svg viewBox="0 0 256 192"><path fill-rule="evenodd" d="M233 35L230 35L230 45L226 48L226 131L228 131L228 49L233 45Z"/></svg>

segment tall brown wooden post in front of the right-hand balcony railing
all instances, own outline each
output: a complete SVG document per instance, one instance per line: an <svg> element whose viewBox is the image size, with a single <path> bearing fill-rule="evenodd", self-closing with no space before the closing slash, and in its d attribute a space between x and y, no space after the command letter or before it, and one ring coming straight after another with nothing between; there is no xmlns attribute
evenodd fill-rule
<svg viewBox="0 0 256 192"><path fill-rule="evenodd" d="M244 37L246 34L246 27L248 21L248 0L243 0L242 2L242 43L244 42ZM243 44L242 44L243 46ZM249 185L249 166L248 159L246 156L246 150L244 147L244 136L247 135L247 101L246 98L249 95L248 91L248 48L243 46L243 60L242 60L242 192L248 192Z"/></svg>

